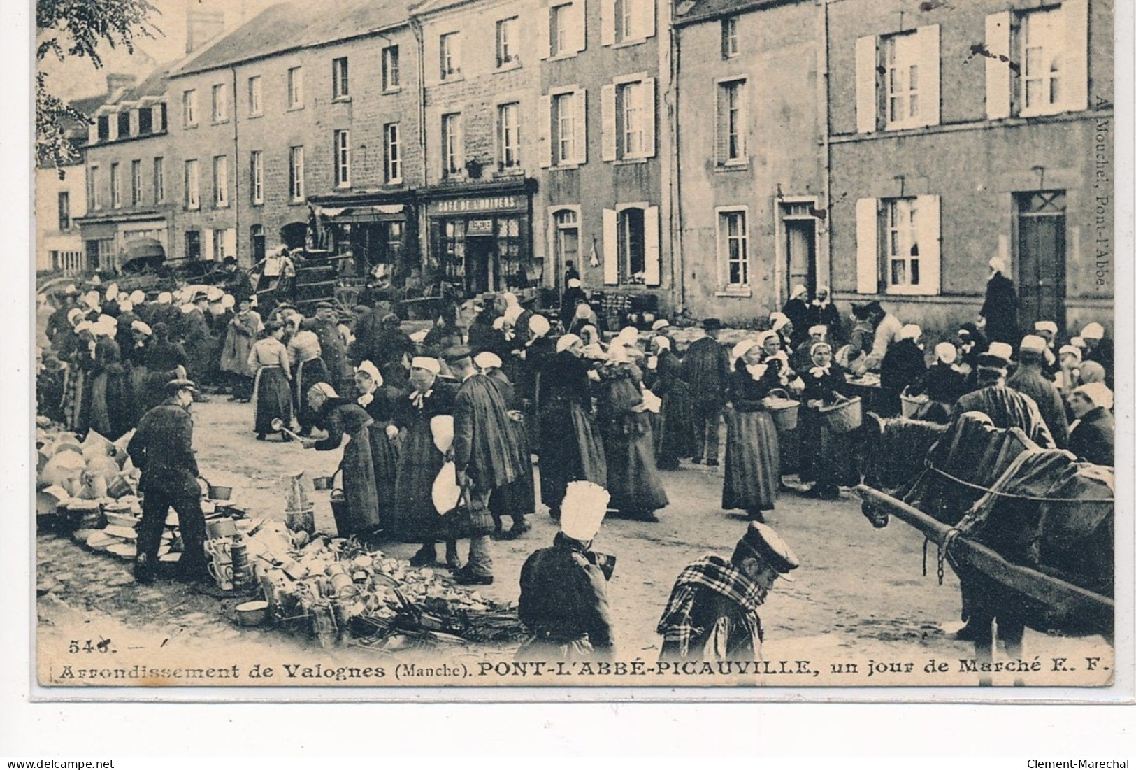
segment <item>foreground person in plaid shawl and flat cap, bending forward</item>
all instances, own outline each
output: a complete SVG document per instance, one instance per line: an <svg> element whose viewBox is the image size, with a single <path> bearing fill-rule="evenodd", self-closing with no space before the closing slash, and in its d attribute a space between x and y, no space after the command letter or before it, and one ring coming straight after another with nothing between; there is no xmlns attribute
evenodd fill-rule
<svg viewBox="0 0 1136 770"><path fill-rule="evenodd" d="M800 564L772 527L751 521L729 561L703 556L675 580L659 620L659 660L761 660L758 608L774 581L792 580L788 574Z"/></svg>

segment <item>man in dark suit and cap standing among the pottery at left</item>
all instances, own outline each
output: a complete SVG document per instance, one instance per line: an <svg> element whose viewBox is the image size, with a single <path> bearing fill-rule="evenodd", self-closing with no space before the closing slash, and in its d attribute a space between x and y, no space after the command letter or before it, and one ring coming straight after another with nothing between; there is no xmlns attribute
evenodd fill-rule
<svg viewBox="0 0 1136 770"><path fill-rule="evenodd" d="M193 454L193 419L190 404L198 392L189 379L174 379L166 385L166 401L139 420L137 430L126 451L142 471L139 488L142 497L142 521L139 524L137 555L134 578L152 583L157 577L158 547L169 509L177 511L177 522L185 544L178 562L184 580L203 580L206 571L206 520L201 512L201 487L198 486L198 461Z"/></svg>

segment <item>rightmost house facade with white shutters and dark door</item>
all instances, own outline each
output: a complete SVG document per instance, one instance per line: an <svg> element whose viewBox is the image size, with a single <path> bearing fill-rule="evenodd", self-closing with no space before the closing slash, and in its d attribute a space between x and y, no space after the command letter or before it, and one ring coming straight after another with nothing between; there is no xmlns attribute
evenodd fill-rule
<svg viewBox="0 0 1136 770"><path fill-rule="evenodd" d="M836 298L951 333L1001 257L1024 327L1109 319L1111 2L826 8Z"/></svg>

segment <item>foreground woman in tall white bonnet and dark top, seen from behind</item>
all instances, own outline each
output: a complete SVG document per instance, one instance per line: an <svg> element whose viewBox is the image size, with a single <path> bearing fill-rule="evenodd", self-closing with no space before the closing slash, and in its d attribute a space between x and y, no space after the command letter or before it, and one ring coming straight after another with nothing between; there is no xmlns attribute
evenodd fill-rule
<svg viewBox="0 0 1136 770"><path fill-rule="evenodd" d="M520 568L517 612L531 638L521 660L608 660L615 653L608 580L616 560L592 551L608 509L608 492L571 482L552 547L534 552Z"/></svg>

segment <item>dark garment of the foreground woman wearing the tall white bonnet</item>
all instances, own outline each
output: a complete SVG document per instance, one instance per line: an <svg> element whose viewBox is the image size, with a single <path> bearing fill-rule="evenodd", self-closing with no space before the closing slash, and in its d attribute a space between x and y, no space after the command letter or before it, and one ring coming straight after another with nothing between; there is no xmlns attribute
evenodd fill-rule
<svg viewBox="0 0 1136 770"><path fill-rule="evenodd" d="M523 660L608 659L612 618L608 580L586 543L557 533L552 547L534 552L520 568L517 614L531 638Z"/></svg>

